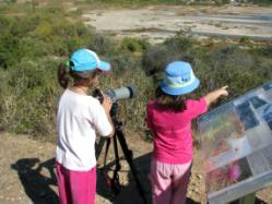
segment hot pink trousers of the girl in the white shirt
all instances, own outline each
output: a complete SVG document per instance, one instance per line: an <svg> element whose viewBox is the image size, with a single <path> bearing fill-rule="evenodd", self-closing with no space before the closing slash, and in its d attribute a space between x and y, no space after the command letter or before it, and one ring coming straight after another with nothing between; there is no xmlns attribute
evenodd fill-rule
<svg viewBox="0 0 272 204"><path fill-rule="evenodd" d="M96 167L88 171L72 171L56 164L60 204L94 204Z"/></svg>

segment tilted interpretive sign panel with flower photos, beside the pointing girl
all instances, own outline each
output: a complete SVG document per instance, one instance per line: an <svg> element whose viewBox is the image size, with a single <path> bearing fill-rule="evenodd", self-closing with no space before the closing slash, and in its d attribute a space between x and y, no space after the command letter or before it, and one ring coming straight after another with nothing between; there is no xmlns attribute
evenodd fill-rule
<svg viewBox="0 0 272 204"><path fill-rule="evenodd" d="M198 120L209 203L272 185L272 82Z"/></svg>

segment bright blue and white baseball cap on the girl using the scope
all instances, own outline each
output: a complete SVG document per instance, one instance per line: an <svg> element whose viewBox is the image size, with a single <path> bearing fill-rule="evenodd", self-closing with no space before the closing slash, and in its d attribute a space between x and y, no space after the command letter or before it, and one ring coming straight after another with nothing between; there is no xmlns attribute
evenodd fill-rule
<svg viewBox="0 0 272 204"><path fill-rule="evenodd" d="M105 61L100 61L98 56L90 49L78 49L70 58L71 71L82 72L92 70L109 71L110 64Z"/></svg>

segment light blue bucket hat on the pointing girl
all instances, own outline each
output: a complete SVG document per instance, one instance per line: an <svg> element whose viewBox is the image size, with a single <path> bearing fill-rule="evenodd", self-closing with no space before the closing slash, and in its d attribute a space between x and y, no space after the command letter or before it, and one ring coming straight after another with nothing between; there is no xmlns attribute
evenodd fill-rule
<svg viewBox="0 0 272 204"><path fill-rule="evenodd" d="M168 95L178 96L191 93L199 84L200 81L194 76L190 63L174 61L166 67L161 88Z"/></svg>

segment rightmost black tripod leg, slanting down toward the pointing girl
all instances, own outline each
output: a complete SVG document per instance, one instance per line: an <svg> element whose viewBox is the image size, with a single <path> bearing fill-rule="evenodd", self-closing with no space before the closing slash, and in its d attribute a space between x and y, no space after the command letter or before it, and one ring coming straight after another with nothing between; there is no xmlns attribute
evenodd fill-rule
<svg viewBox="0 0 272 204"><path fill-rule="evenodd" d="M117 128L117 129L116 129L116 135L117 135L117 137L118 137L118 140L119 140L119 143L120 143L120 145L121 145L121 148L122 148L125 158L126 158L126 160L127 160L128 164L129 164L129 167L130 167L130 170L131 170L131 172L132 172L132 176L133 176L134 179L135 179L135 183L137 183L139 193L140 193L140 195L142 196L143 202L144 202L145 204L147 204L147 200L146 200L146 197L145 197L144 190L143 190L142 184L141 184L139 178L138 178L137 170L135 170L135 166L134 166L134 164L133 164L133 159L132 159L132 158L133 158L133 154L132 154L132 151L130 151L130 149L128 148L126 139L125 139L123 133L122 133L122 131L121 131L121 128Z"/></svg>

